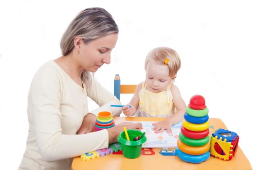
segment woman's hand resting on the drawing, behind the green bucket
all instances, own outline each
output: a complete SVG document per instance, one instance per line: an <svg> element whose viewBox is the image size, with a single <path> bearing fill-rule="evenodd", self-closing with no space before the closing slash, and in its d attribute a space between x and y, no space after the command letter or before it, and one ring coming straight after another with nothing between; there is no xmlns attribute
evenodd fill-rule
<svg viewBox="0 0 256 170"><path fill-rule="evenodd" d="M136 129L136 130L140 130L140 128L142 127L141 123L132 123L132 122L123 122L120 123L118 125L115 125L112 128L107 129L108 133L109 133L109 143L114 143L114 142L118 142L117 141L117 136L124 131L124 126L127 129Z"/></svg>

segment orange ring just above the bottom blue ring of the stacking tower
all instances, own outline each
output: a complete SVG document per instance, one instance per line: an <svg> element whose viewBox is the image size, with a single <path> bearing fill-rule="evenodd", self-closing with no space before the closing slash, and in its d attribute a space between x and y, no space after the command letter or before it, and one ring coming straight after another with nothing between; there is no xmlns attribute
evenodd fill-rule
<svg viewBox="0 0 256 170"><path fill-rule="evenodd" d="M209 143L201 147L192 147L184 144L180 139L178 139L177 145L178 145L178 148L183 153L192 154L192 155L200 155L200 154L206 153L210 149Z"/></svg>

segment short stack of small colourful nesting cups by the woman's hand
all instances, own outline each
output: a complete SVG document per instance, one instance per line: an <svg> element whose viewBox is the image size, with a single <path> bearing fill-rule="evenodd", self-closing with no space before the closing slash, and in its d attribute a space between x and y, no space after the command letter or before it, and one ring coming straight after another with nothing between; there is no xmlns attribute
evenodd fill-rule
<svg viewBox="0 0 256 170"><path fill-rule="evenodd" d="M108 129L115 125L114 119L110 112L100 112L94 123L94 130L100 131L102 129Z"/></svg>

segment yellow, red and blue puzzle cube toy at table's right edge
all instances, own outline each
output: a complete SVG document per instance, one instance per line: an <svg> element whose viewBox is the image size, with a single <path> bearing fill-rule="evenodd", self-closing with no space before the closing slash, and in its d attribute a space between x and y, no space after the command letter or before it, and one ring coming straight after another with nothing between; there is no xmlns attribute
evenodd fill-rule
<svg viewBox="0 0 256 170"><path fill-rule="evenodd" d="M226 129L218 129L211 136L210 153L222 160L231 160L237 153L239 136Z"/></svg>

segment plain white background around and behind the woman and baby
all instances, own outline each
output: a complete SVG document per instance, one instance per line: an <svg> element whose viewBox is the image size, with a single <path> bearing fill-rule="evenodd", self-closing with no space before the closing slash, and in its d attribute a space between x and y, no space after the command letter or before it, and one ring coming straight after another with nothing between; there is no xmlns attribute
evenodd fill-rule
<svg viewBox="0 0 256 170"><path fill-rule="evenodd" d="M111 63L95 79L111 92L116 73L122 84L138 84L149 50L175 49L182 60L175 84L183 100L204 96L209 117L238 133L256 168L256 5L248 0L0 0L0 166L17 169L25 151L34 74L61 55L61 36L76 14L95 6L107 9L120 29ZM122 95L121 101L130 98ZM90 110L95 107L90 101Z"/></svg>

